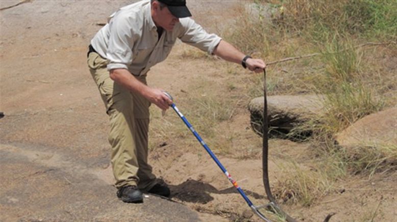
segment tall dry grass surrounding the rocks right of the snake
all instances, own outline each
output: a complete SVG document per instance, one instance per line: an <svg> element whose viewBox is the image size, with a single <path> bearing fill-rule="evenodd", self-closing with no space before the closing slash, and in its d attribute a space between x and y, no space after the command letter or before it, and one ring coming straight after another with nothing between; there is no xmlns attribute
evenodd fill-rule
<svg viewBox="0 0 397 222"><path fill-rule="evenodd" d="M308 128L314 131L308 142L319 163L309 163L312 170L307 170L294 160L285 159L289 163L280 168L286 178L275 185L276 195L284 201L309 206L332 191L333 183L345 175L372 176L395 170L395 146L367 144L348 151L335 146L333 139L337 132L362 117L395 105L395 69L380 62L382 58L395 57L397 51L395 1L254 2L259 15L249 16L241 9L236 29L226 33L228 41L265 61L319 53L318 57L269 67L268 95L316 93L326 97L325 115L293 132ZM263 12L269 12L270 17L266 19ZM255 29L246 32L247 26ZM250 41L243 41L246 39ZM375 39L391 44L357 47ZM263 95L261 76L247 80L247 96Z"/></svg>

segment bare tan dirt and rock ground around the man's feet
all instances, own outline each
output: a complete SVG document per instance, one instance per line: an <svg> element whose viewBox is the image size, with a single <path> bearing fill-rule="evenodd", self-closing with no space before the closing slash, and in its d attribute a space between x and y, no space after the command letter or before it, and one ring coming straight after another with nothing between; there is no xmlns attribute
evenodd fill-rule
<svg viewBox="0 0 397 222"><path fill-rule="evenodd" d="M18 2L1 1L0 7ZM31 1L1 11L0 111L5 114L0 120L1 221L260 221L200 144L185 146L184 141L194 140L188 131L179 140L165 136L152 142L150 162L156 175L169 183L171 200L150 195L143 204L117 200L111 185L108 117L86 66L86 52L107 16L131 2ZM241 3L188 4L195 20L213 32L232 22L233 9ZM175 46L148 75L150 86L167 90L177 102L192 91L191 82L221 82L229 74L221 61L185 58L182 63L184 50L182 44ZM245 74L241 69L237 75ZM182 109L188 104L178 105ZM151 109L158 113L156 107ZM153 116L152 123L160 121ZM237 138L235 150L246 142L261 149L261 138L250 129L245 108L225 124L224 133ZM272 184L282 179L281 153L302 164L308 159L309 146L304 143L271 140L270 149ZM257 205L267 203L260 155L218 156ZM314 206L282 207L304 221L322 221L333 212L330 221L394 221L395 184L395 172L370 179L351 176L337 182L340 192L329 193Z"/></svg>

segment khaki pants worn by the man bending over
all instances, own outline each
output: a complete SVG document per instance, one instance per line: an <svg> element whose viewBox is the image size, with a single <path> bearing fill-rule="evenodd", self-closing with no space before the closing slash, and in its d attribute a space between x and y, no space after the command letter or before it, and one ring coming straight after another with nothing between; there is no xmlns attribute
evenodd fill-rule
<svg viewBox="0 0 397 222"><path fill-rule="evenodd" d="M147 163L150 102L114 82L109 77L107 61L97 53L91 52L87 62L110 119L115 186L137 185L139 189L148 190L156 179L152 166ZM146 76L137 79L146 84Z"/></svg>

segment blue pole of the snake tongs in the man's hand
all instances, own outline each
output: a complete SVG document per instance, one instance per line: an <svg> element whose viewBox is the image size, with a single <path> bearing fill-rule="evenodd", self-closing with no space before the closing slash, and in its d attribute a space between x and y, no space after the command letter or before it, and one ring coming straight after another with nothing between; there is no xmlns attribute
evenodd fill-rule
<svg viewBox="0 0 397 222"><path fill-rule="evenodd" d="M169 94L166 94L169 96ZM170 96L169 96L170 97ZM172 98L172 97L170 97ZM182 113L179 111L178 107L175 105L175 103L171 104L171 107L175 112L178 114L178 116L182 119L182 121L186 124L187 128L190 129L190 131L193 133L193 135L197 138L198 142L206 149L207 153L210 154L211 158L216 162L216 164L219 166L219 168L224 172L224 174L228 177L229 181L233 184L234 187L236 187L237 191L240 193L240 195L244 198L245 202L247 202L248 206L252 206L252 202L250 199L245 195L244 191L238 186L237 182L233 180L232 176L229 174L229 172L225 169L225 167L219 162L219 160L216 158L214 153L212 153L211 149L207 146L207 144L203 141L203 139L198 135L198 133L194 130L193 126L187 121L187 119L182 115Z"/></svg>

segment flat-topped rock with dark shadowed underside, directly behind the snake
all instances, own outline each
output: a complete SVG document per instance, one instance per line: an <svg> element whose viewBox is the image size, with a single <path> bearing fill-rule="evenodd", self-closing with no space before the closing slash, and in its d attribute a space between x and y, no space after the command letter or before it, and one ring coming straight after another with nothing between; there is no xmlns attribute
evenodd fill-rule
<svg viewBox="0 0 397 222"><path fill-rule="evenodd" d="M321 113L322 96L268 96L267 118L269 120L270 134L285 135L293 128L311 120L313 116ZM251 125L254 131L262 134L263 97L251 100L249 110L251 112ZM310 131L300 132L299 136L310 134Z"/></svg>

